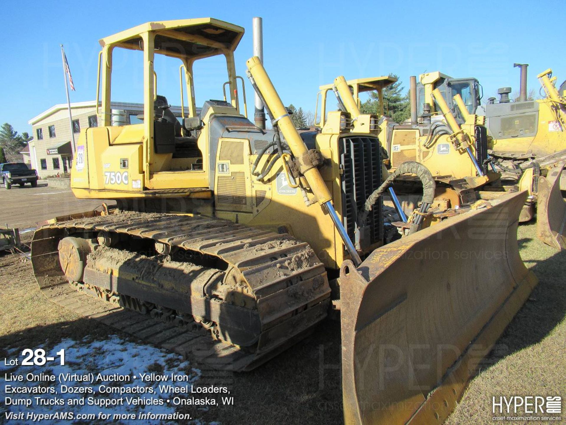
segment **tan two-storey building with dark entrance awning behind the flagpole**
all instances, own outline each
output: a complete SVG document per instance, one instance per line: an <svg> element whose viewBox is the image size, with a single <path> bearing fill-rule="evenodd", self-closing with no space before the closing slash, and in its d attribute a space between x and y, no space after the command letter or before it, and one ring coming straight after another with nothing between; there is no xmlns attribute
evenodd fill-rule
<svg viewBox="0 0 566 425"><path fill-rule="evenodd" d="M140 124L138 115L143 114L143 104L112 102L112 125ZM181 117L181 107L171 107L176 117ZM75 142L81 129L96 127L96 101L71 103L72 129ZM180 118L179 118L180 119ZM31 167L38 176L63 175L72 167L72 137L67 104L58 104L28 121L32 126L33 140L28 143ZM24 151L21 152L22 154ZM25 161L25 156L24 156Z"/></svg>

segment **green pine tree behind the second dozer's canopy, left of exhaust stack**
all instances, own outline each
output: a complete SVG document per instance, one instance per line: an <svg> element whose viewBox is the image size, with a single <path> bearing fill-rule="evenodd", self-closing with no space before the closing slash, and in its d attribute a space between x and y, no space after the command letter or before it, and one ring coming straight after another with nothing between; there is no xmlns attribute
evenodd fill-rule
<svg viewBox="0 0 566 425"><path fill-rule="evenodd" d="M404 87L402 81L395 74L389 74L397 78L397 82L383 89L383 109L384 114L392 117L395 122L403 122L411 115L409 92L403 94ZM360 111L362 113L379 114L378 92L370 92L370 97L362 103Z"/></svg>

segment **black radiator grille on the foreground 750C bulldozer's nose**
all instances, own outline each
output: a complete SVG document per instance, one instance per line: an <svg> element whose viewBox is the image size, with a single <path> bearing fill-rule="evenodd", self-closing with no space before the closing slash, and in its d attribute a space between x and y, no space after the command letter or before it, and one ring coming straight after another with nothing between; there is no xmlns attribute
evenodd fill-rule
<svg viewBox="0 0 566 425"><path fill-rule="evenodd" d="M358 211L366 199L381 185L381 152L376 137L345 137L340 145L340 165L342 175L342 220L348 236L355 240L355 227ZM381 202L374 206L368 215L370 244L383 239L383 220Z"/></svg>

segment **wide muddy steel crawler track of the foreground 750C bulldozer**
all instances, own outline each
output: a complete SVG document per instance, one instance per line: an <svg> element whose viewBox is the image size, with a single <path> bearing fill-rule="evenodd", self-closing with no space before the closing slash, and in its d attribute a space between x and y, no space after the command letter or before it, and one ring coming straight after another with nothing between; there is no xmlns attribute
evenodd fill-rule
<svg viewBox="0 0 566 425"><path fill-rule="evenodd" d="M88 262L84 269L84 279L90 279L88 284L75 283L76 287L73 287L61 270L58 243L68 235L82 234L85 239L92 239L98 232L122 235L132 240L149 240L171 249L217 258L224 261L228 269L216 270L169 261L166 256L146 257L128 253L125 255L126 261L119 264L119 273L116 273L117 269L114 270L115 275L96 262ZM100 247L89 258L108 262L116 252L119 250ZM116 302L84 294L88 288L92 288L92 282L95 282L98 292L110 295L106 299L117 301L116 292L119 291L113 292L108 288L114 289L114 284L126 287L124 282L131 283L122 275L130 276L134 273L136 264L144 266L144 270L149 267L149 273L157 276L156 281L159 273L170 267L167 270L168 273L174 272L171 274L173 283L157 282L155 288L160 287L159 291L169 288L172 291L167 292L169 299L183 298L181 301L191 306L191 311L184 311L189 315L204 317L200 311L211 315L220 311L226 317L241 322L241 332L247 332L248 328L258 328L254 344L251 347L241 347L222 339L221 333L220 337L216 333L216 338L213 338L209 330L196 326L195 322L177 326L173 322L162 322L149 315L140 315ZM230 371L255 368L305 337L327 315L330 299L326 271L308 244L286 234L201 216L119 213L48 224L38 229L33 237L32 265L41 291L54 303L153 345L183 356L192 355L197 361L213 368ZM186 274L183 273L189 267L189 275L196 276L194 281L179 282L179 276L185 277ZM226 282L226 277L234 275L234 272L239 276L240 286L242 279L245 281L247 287L243 290L236 287L238 282L234 287ZM219 277L225 278L220 284L224 286L218 286ZM143 272L130 279L151 282ZM231 301L228 296L222 299L222 294L230 294L230 291L225 290L226 285L230 291L240 295L243 291L244 295L255 300L255 305L250 308L245 301L237 305L238 299L243 299L238 297ZM77 291L77 288L84 291ZM219 295L217 288L224 288L225 292ZM158 293L157 298L160 295ZM157 303L155 300L141 300ZM122 298L121 304L123 305ZM212 322L217 325L214 320ZM218 328L222 331L222 326L218 325ZM213 329L214 326L211 330Z"/></svg>

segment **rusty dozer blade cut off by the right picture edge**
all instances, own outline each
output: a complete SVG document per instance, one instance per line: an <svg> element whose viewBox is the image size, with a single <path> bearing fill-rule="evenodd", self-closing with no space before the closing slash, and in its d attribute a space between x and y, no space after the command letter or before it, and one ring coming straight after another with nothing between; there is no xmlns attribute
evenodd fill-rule
<svg viewBox="0 0 566 425"><path fill-rule="evenodd" d="M560 192L564 162L538 179L537 237L558 250L566 249L566 202Z"/></svg>

